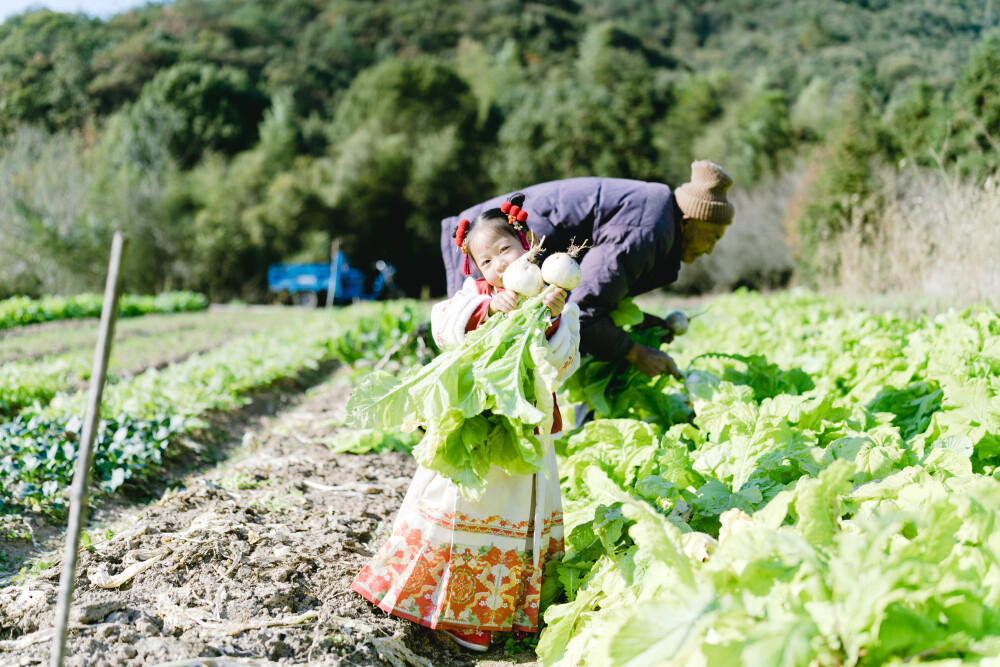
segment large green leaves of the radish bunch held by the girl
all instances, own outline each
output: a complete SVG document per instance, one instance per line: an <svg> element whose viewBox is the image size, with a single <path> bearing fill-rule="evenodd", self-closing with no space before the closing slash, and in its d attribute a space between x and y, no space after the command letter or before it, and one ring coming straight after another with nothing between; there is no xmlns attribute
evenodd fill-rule
<svg viewBox="0 0 1000 667"><path fill-rule="evenodd" d="M482 493L491 466L511 475L538 471L551 439L558 376L545 339L549 310L542 303L554 289L490 317L426 366L399 377L370 373L347 402L350 423L383 430L423 427L414 458L469 498Z"/></svg>

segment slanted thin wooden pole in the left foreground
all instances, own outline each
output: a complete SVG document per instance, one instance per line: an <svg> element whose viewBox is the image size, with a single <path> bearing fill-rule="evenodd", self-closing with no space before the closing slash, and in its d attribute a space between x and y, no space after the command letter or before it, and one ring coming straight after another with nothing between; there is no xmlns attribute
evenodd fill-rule
<svg viewBox="0 0 1000 667"><path fill-rule="evenodd" d="M63 571L59 579L59 602L56 605L54 634L52 636L51 667L62 667L66 655L66 635L69 631L69 608L73 601L73 585L76 579L76 556L80 542L80 530L86 523L87 497L90 491L90 468L94 461L94 436L101 421L101 399L104 395L104 380L108 373L108 357L111 356L111 341L115 337L115 322L118 320L118 299L121 296L118 275L122 256L128 242L121 232L115 232L111 242L111 261L108 264L108 279L104 285L104 303L101 306L101 328L94 349L94 366L90 373L90 394L87 399L87 413L80 432L79 449L76 454L76 470L70 488L69 526L66 529L66 552L63 554Z"/></svg>

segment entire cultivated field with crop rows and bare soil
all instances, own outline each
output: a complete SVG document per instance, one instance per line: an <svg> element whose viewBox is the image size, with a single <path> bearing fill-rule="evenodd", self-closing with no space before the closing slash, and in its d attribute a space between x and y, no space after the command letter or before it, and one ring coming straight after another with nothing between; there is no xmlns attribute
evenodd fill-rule
<svg viewBox="0 0 1000 667"><path fill-rule="evenodd" d="M691 319L670 343L631 331L685 380L585 358L563 386L544 628L479 664L1000 664L997 313L796 291L640 305ZM67 664L474 664L350 590L421 433L351 428L345 406L373 370L435 356L428 318L122 320ZM0 664L47 659L94 328L0 332Z"/></svg>

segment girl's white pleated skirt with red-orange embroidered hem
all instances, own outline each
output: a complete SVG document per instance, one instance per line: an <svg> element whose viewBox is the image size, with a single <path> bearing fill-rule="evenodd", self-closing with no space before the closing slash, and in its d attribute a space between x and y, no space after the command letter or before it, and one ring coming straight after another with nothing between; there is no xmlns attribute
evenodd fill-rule
<svg viewBox="0 0 1000 667"><path fill-rule="evenodd" d="M563 551L556 458L511 476L494 466L479 500L420 467L392 535L353 588L379 609L429 628L538 629L542 570Z"/></svg>

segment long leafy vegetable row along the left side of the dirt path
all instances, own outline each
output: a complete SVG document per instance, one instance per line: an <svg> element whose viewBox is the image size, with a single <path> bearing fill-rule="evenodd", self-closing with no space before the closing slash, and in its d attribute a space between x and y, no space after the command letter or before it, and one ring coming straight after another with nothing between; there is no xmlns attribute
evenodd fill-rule
<svg viewBox="0 0 1000 667"><path fill-rule="evenodd" d="M111 492L125 480L155 472L172 437L204 426L199 417L209 411L246 404L250 392L276 380L326 360L371 364L383 359L374 355L385 348L405 358L412 348L393 343L418 327L419 312L399 303L315 313L284 329L241 337L162 370L110 383L95 449L95 485ZM378 344L350 347L345 338ZM0 507L62 509L86 399L85 392L59 394L45 408L0 425Z"/></svg>

